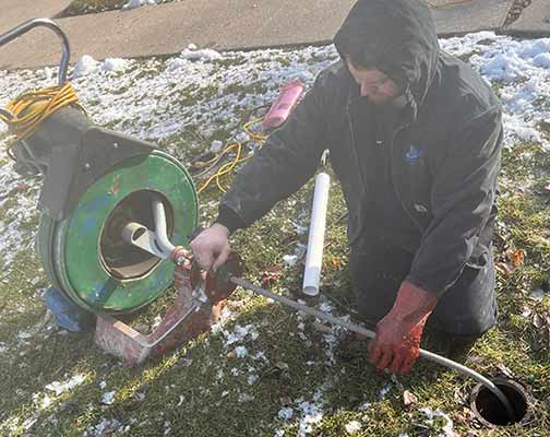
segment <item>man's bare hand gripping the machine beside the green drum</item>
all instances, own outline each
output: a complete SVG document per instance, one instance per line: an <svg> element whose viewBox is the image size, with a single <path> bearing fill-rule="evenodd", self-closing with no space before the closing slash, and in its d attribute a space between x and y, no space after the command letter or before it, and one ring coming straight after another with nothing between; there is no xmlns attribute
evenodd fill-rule
<svg viewBox="0 0 550 437"><path fill-rule="evenodd" d="M191 241L191 251L202 269L216 271L227 261L231 252L228 237L229 229L219 223L214 223Z"/></svg>

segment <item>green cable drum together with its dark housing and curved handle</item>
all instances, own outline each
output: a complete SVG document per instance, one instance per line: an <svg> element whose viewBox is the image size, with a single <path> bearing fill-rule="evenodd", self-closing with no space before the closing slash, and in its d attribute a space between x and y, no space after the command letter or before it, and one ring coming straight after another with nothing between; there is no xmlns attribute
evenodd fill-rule
<svg viewBox="0 0 550 437"><path fill-rule="evenodd" d="M187 247L198 221L193 181L154 144L93 125L67 82L69 39L57 23L29 20L0 34L0 47L38 26L61 42L58 86L21 96L10 106L24 108L21 114L0 108L0 120L10 129L25 127L10 146L15 172L44 177L40 262L52 285L77 306L96 314L132 312L168 288L174 264L125 243L122 229L139 224L142 235L157 231L153 204L160 201L163 238ZM35 111L33 105L45 98L49 104ZM35 114L25 119L26 110Z"/></svg>

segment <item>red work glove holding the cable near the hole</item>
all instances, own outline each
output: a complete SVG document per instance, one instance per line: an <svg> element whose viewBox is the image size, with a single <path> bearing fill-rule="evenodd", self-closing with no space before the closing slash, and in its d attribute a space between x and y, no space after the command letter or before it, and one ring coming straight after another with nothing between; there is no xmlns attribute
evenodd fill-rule
<svg viewBox="0 0 550 437"><path fill-rule="evenodd" d="M406 374L418 358L420 336L435 308L434 294L404 281L394 306L376 323L376 336L369 344L369 362L380 370Z"/></svg>

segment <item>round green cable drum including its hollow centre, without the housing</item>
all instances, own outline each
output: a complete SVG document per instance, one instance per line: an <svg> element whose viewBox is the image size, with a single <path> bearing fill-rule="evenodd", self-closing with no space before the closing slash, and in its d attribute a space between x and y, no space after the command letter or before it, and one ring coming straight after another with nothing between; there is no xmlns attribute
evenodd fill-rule
<svg viewBox="0 0 550 437"><path fill-rule="evenodd" d="M122 239L131 222L155 229L154 199L163 202L170 241L187 247L198 222L195 189L186 168L157 150L110 168L64 220L43 213L37 246L52 284L96 314L128 314L155 300L171 285L174 263Z"/></svg>

